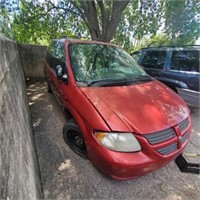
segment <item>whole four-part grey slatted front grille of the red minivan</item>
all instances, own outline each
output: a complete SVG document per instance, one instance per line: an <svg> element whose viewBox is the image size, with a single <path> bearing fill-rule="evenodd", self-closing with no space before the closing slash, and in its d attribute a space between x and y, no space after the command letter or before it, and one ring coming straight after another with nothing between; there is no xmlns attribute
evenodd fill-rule
<svg viewBox="0 0 200 200"><path fill-rule="evenodd" d="M177 135L176 135L173 128L168 128L168 129L165 129L165 130L162 130L162 131L158 131L158 132L154 132L154 133L150 133L150 134L145 134L144 137L148 140L148 142L151 145L155 145L155 144L158 144L158 143L162 144L162 142L165 142L169 139L176 137L177 138L176 142L174 141L174 143L170 143L167 146L155 148L155 150L157 152L159 152L160 154L167 155L167 154L170 154L170 153L172 153L172 152L174 152L178 149L178 142L181 142L183 144L188 140L189 135L190 135L190 131L188 130L183 135L183 132L188 128L188 126L189 126L189 119L188 118L184 119L182 122L180 122L178 124L178 127L179 127L180 132L181 132L181 136L182 136L181 140L180 140L180 136L179 136L179 139L177 138ZM159 145L159 146L161 146L161 145Z"/></svg>

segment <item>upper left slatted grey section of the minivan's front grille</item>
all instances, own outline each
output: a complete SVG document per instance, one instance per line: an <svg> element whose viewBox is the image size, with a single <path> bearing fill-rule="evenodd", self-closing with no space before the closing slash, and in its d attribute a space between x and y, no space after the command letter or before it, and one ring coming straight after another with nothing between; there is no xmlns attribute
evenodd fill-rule
<svg viewBox="0 0 200 200"><path fill-rule="evenodd" d="M150 144L157 144L170 138L176 137L176 133L173 128L165 129L163 131L158 131L150 134L144 135L144 137L149 141Z"/></svg>

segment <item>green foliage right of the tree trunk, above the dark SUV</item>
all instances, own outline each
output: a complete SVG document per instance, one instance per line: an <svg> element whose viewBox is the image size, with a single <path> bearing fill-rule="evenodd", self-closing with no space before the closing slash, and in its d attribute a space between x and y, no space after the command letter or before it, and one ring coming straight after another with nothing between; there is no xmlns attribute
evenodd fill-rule
<svg viewBox="0 0 200 200"><path fill-rule="evenodd" d="M198 0L132 0L114 41L129 52L148 46L194 44L200 37L199 10Z"/></svg>

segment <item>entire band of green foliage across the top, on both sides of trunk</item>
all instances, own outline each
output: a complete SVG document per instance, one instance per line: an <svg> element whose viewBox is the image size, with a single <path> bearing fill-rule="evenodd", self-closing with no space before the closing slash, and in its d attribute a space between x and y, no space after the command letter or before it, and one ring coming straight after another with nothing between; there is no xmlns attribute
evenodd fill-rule
<svg viewBox="0 0 200 200"><path fill-rule="evenodd" d="M103 24L106 26L102 10L104 19L109 19L112 1L104 2L104 7L94 3L98 31L102 32ZM0 31L18 42L31 44L48 44L52 38L63 36L92 38L83 16L86 5L92 6L71 0L0 0ZM149 45L193 44L199 37L199 10L198 0L131 0L122 12L112 42L129 52Z"/></svg>

